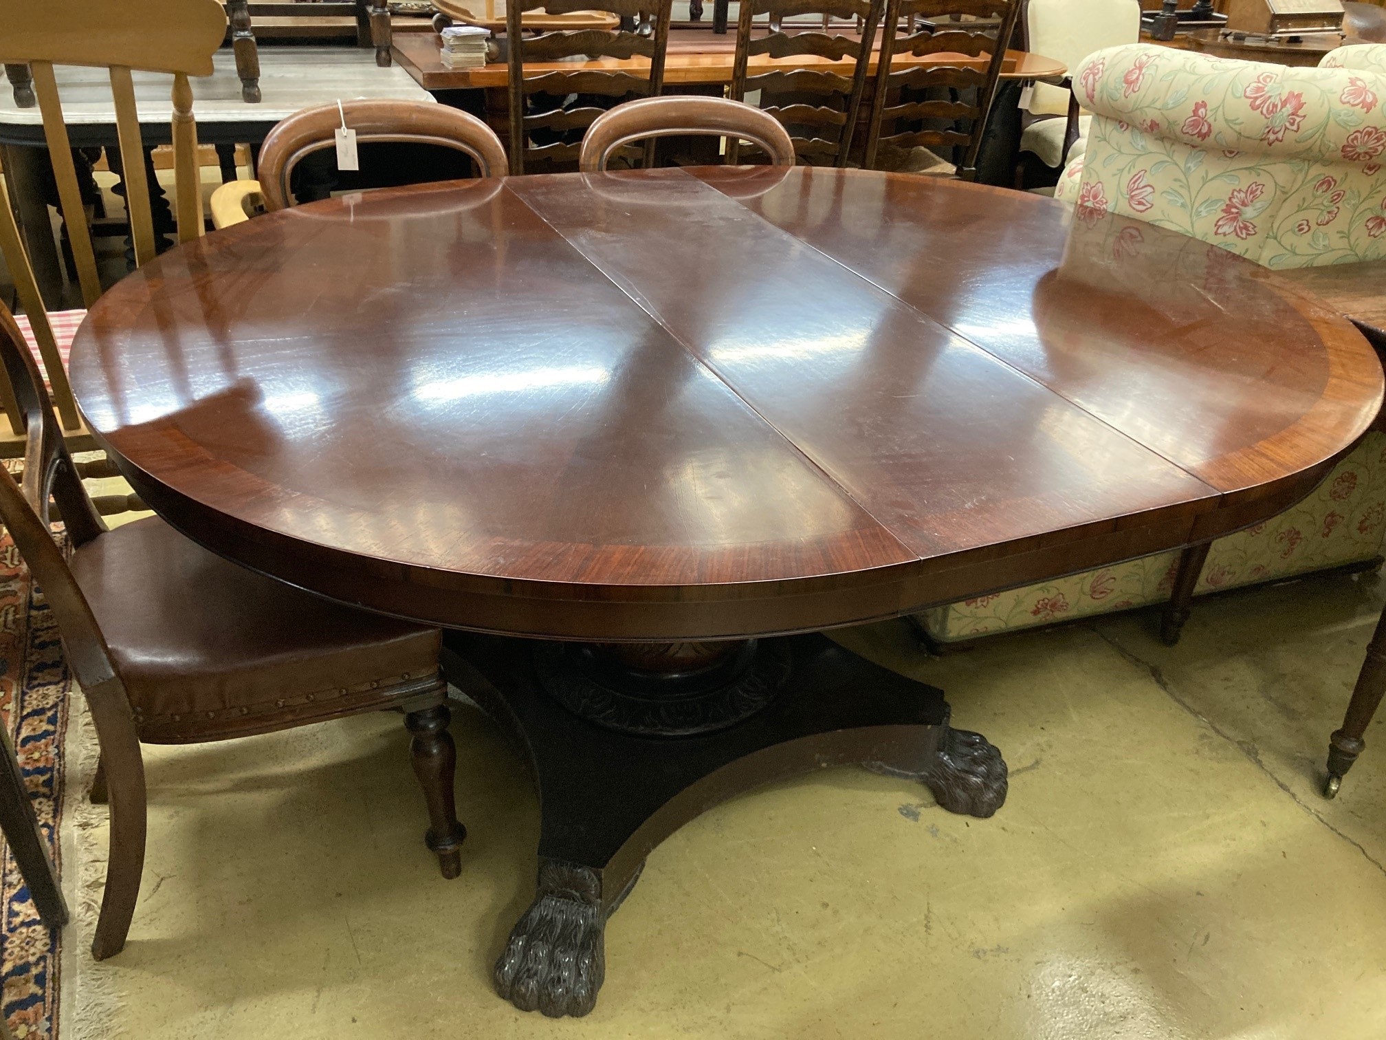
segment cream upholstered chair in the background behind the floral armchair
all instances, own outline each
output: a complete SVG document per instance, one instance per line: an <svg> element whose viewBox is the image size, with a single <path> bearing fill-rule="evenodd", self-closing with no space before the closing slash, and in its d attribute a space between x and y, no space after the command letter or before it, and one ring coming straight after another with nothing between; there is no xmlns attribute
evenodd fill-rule
<svg viewBox="0 0 1386 1040"><path fill-rule="evenodd" d="M1138 0L1030 0L1026 33L1027 50L1077 68L1096 50L1135 43L1141 37L1141 4ZM1021 132L1021 153L1031 153L1051 169L1082 154L1092 116L1080 114L1071 90L1035 83L1028 111L1040 118Z"/></svg>

